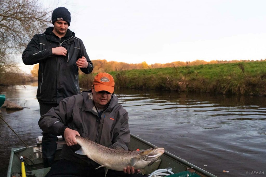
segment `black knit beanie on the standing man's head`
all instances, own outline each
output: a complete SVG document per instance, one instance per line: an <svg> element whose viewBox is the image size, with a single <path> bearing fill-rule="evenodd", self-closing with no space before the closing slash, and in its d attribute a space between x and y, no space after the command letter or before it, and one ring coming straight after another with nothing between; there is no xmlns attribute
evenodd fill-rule
<svg viewBox="0 0 266 177"><path fill-rule="evenodd" d="M64 20L68 23L68 26L70 26L70 12L65 7L57 7L55 10L53 10L52 13L52 23L54 24L56 20Z"/></svg>

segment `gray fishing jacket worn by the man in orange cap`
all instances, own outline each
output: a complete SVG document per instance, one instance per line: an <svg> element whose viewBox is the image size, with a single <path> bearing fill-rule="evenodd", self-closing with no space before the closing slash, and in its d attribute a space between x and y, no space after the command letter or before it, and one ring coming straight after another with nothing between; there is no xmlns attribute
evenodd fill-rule
<svg viewBox="0 0 266 177"><path fill-rule="evenodd" d="M69 127L78 131L82 137L88 137L106 147L115 143L128 150L130 141L128 113L122 105L118 104L117 97L112 96L108 108L99 118L91 90L62 100L59 106L53 107L41 116L39 126L43 133L62 136L65 127ZM80 149L79 145L64 145L60 157L78 163L95 165L87 156L74 153L78 149Z"/></svg>

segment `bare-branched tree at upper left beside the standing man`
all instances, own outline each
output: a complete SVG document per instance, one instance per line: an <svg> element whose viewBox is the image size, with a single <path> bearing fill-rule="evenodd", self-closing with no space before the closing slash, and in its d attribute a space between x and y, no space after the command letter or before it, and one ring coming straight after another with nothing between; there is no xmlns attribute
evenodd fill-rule
<svg viewBox="0 0 266 177"><path fill-rule="evenodd" d="M36 33L51 23L51 11L38 0L0 0L0 82L1 75L15 67L20 54Z"/></svg>

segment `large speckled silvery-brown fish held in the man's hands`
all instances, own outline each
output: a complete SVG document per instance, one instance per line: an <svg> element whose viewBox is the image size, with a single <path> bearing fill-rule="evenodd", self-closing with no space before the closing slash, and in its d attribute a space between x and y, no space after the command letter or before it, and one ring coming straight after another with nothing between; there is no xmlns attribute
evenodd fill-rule
<svg viewBox="0 0 266 177"><path fill-rule="evenodd" d="M108 169L123 171L127 166L134 166L144 174L144 168L147 165L152 165L164 153L164 148L126 151L107 148L81 136L76 136L76 139L81 149L75 153L86 155L100 164L101 166L98 168L104 167L105 175Z"/></svg>

